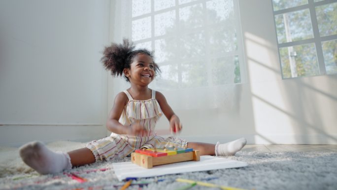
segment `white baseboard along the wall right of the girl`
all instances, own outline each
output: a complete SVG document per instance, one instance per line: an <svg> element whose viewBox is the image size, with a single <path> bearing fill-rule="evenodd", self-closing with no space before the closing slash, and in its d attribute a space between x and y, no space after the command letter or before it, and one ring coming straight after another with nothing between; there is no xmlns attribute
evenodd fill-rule
<svg viewBox="0 0 337 190"><path fill-rule="evenodd" d="M285 135L205 135L205 136L179 136L190 142L230 142L238 138L247 139L247 144L269 145L269 144L294 144L294 145L337 145L337 134L285 134Z"/></svg>

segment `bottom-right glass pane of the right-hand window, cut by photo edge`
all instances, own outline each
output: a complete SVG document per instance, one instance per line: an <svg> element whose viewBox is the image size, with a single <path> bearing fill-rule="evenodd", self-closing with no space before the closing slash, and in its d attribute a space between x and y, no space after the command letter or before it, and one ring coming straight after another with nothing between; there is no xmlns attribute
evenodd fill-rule
<svg viewBox="0 0 337 190"><path fill-rule="evenodd" d="M322 42L322 48L327 74L337 73L337 40Z"/></svg>

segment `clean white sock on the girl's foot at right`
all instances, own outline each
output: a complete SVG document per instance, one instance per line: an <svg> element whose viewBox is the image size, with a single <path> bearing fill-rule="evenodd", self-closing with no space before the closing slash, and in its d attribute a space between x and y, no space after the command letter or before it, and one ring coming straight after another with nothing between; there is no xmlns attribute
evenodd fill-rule
<svg viewBox="0 0 337 190"><path fill-rule="evenodd" d="M215 155L216 156L234 155L236 152L241 150L246 145L246 143L247 141L245 138L240 138L226 144L220 144L219 142L217 142L215 145Z"/></svg>

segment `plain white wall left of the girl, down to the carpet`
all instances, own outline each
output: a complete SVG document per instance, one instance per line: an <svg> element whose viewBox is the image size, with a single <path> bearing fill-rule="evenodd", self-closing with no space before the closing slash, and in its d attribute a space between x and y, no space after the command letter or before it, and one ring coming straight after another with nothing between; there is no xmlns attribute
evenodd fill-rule
<svg viewBox="0 0 337 190"><path fill-rule="evenodd" d="M109 0L0 1L0 145L105 135Z"/></svg>

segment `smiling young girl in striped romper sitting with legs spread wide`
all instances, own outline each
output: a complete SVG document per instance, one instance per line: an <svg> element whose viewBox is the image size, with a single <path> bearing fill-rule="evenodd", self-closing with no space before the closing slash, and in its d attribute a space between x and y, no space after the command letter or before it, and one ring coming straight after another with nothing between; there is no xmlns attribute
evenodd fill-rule
<svg viewBox="0 0 337 190"><path fill-rule="evenodd" d="M159 67L153 54L146 49L135 50L127 39L123 44L112 43L106 47L101 61L112 76L122 76L131 87L117 94L106 127L109 137L92 141L86 148L67 153L53 152L40 142L32 142L20 148L22 160L40 174L61 172L72 167L90 164L98 160L125 157L136 149L180 147L199 150L201 155L234 155L246 144L244 138L220 144L194 143L176 137L157 136L154 133L158 119L164 114L169 119L172 132L182 129L179 117L169 107L164 95L148 88Z"/></svg>

